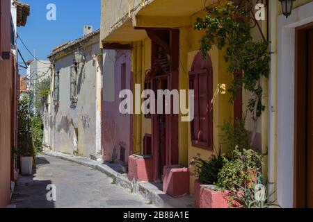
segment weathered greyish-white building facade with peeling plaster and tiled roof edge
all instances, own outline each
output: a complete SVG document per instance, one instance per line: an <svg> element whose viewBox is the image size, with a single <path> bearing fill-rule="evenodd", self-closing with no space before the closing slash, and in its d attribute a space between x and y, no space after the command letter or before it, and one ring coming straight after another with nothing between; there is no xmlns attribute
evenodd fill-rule
<svg viewBox="0 0 313 222"><path fill-rule="evenodd" d="M47 146L88 157L101 153L99 31L58 46L48 58L53 71L44 123L49 130Z"/></svg>

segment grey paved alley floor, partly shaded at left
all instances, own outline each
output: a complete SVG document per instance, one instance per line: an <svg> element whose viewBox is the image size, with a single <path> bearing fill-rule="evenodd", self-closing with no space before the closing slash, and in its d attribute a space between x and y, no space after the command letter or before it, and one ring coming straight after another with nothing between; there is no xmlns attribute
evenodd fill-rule
<svg viewBox="0 0 313 222"><path fill-rule="evenodd" d="M11 204L17 208L154 207L112 182L112 178L89 167L39 155L33 176L19 177ZM56 201L47 200L51 190L47 190L48 185L56 186Z"/></svg>

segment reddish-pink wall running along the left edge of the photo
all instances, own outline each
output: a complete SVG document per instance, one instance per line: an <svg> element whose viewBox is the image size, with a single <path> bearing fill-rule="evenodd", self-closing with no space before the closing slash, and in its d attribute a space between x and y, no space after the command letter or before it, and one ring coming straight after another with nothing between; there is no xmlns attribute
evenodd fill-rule
<svg viewBox="0 0 313 222"><path fill-rule="evenodd" d="M10 0L1 0L0 54L10 51ZM13 85L13 57L0 59L0 207L6 207L10 196L11 176L11 92Z"/></svg>

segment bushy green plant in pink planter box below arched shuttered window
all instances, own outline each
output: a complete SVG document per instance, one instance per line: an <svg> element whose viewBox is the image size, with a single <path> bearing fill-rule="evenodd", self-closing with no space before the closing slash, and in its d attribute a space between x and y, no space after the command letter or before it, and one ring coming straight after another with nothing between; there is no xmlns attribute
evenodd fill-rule
<svg viewBox="0 0 313 222"><path fill-rule="evenodd" d="M260 183L262 155L252 149L232 151L230 157L217 155L209 161L199 156L193 160L195 167L194 207L240 207L248 189ZM242 189L245 187L246 189Z"/></svg>

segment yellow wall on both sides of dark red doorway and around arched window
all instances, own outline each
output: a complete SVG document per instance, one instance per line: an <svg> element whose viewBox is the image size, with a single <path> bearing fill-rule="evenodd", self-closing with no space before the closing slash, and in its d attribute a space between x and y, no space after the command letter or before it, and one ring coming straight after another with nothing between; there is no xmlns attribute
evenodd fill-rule
<svg viewBox="0 0 313 222"><path fill-rule="evenodd" d="M199 12L191 17L192 23L195 22L197 16L203 15L203 12ZM202 37L201 31L193 30L193 27L183 27L179 28L179 89L188 89L188 72L191 71L191 65L193 58L198 53L200 49L200 38ZM132 71L134 72L134 83L141 83L143 89L143 83L145 80L145 71L151 68L151 41L149 39L142 40L142 58L141 63L138 63L138 44L139 42L133 43L132 49ZM230 85L232 75L227 74L226 65L223 59L223 52L218 51L214 48L210 51L211 60L213 63L213 84L214 91L217 85L220 83L225 83ZM141 64L142 78L138 78L138 65ZM137 75L136 75L137 74ZM220 147L220 142L218 141L218 135L221 134L220 126L223 121L228 120L233 117L233 107L228 103L230 99L229 95L218 95L216 99L216 104L214 106L214 145L216 148ZM138 118L141 118L140 127L138 127ZM191 145L191 133L190 133L190 123L180 121L179 116L179 164L185 167L189 167L189 162L191 162L192 157L200 153L203 158L209 159L213 154L212 151L206 151L201 148L196 148ZM142 153L142 141L145 134L152 133L152 123L151 119L146 119L143 114L134 115L134 147L138 147L141 144L141 150L137 153ZM138 139L138 134L141 139ZM191 178L191 192L193 191L193 183L195 178Z"/></svg>

